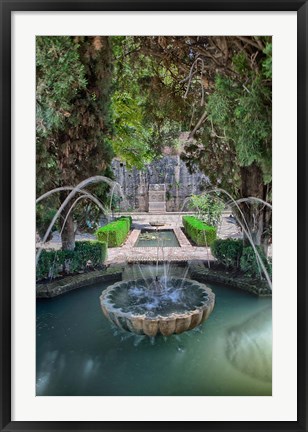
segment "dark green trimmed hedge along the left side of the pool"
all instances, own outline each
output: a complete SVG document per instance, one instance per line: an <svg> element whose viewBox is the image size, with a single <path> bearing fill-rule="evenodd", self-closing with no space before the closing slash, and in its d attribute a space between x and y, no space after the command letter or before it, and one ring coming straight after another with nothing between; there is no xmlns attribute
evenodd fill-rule
<svg viewBox="0 0 308 432"><path fill-rule="evenodd" d="M54 279L62 274L72 274L84 271L87 262L98 267L107 257L107 244L98 241L79 241L73 251L42 250L36 266L36 280Z"/></svg>

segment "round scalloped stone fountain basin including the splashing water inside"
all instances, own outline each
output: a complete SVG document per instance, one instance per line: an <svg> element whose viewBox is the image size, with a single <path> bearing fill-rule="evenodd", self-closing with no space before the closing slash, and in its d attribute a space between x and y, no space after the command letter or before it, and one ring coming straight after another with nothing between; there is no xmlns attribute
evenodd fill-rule
<svg viewBox="0 0 308 432"><path fill-rule="evenodd" d="M159 292L152 280L109 286L100 296L104 315L123 330L147 336L183 333L208 319L215 294L206 285L175 277L162 277L159 283Z"/></svg>

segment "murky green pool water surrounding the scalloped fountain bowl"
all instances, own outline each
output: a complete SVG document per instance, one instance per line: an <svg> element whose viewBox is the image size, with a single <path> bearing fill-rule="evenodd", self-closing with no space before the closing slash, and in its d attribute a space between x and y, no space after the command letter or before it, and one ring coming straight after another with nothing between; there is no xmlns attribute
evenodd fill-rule
<svg viewBox="0 0 308 432"><path fill-rule="evenodd" d="M38 300L37 395L271 395L271 299L208 286L208 321L152 340L111 326L99 304L107 284Z"/></svg>

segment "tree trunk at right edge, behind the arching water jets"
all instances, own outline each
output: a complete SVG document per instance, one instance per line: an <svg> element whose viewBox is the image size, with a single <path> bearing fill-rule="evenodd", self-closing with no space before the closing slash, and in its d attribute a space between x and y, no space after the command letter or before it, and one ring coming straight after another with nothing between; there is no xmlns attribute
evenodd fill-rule
<svg viewBox="0 0 308 432"><path fill-rule="evenodd" d="M249 167L241 168L241 198L255 197L264 201L267 200L268 187L264 185L261 169L253 163ZM255 202L244 202L241 204L241 211L248 226L252 241L257 246L267 250L270 238L269 227L271 223L271 210ZM244 227L246 227L244 222ZM248 237L244 234L244 243L250 244Z"/></svg>

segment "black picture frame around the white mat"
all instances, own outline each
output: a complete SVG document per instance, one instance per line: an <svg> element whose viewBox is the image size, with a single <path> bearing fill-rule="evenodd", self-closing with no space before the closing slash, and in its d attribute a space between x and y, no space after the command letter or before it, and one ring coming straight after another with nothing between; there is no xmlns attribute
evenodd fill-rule
<svg viewBox="0 0 308 432"><path fill-rule="evenodd" d="M67 430L206 430L206 431L307 431L307 0L0 0L1 5L1 180L0 180L0 425L1 431ZM296 11L298 24L298 419L294 422L76 422L11 421L11 13L15 11ZM287 31L287 29L286 29ZM295 289L295 287L294 287Z"/></svg>

